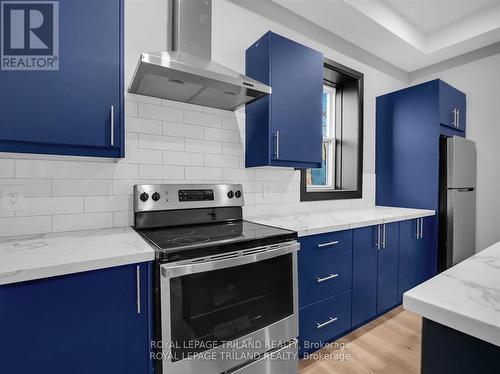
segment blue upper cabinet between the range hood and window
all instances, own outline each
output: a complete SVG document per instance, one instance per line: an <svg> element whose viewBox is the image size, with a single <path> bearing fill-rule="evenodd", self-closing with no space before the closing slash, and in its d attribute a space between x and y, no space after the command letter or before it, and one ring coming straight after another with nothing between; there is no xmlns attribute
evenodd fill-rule
<svg viewBox="0 0 500 374"><path fill-rule="evenodd" d="M323 55L268 32L247 49L246 75L272 88L246 106L246 166L321 167Z"/></svg>

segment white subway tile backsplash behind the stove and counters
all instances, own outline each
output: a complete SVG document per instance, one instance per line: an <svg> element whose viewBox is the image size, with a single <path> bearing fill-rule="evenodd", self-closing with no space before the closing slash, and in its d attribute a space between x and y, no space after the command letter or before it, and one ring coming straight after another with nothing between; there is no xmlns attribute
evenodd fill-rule
<svg viewBox="0 0 500 374"><path fill-rule="evenodd" d="M126 158L0 159L0 187L23 185L25 207L0 209L0 236L128 226L135 184L241 183L246 217L345 209L375 203L375 175L363 198L300 202L300 171L245 168L245 113L127 94Z"/></svg>

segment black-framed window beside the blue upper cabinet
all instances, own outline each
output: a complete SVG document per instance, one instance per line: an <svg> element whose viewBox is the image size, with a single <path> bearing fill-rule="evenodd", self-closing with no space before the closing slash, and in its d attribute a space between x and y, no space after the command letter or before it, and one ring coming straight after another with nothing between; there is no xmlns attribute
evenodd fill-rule
<svg viewBox="0 0 500 374"><path fill-rule="evenodd" d="M301 172L301 201L362 197L363 74L325 60L323 161Z"/></svg>

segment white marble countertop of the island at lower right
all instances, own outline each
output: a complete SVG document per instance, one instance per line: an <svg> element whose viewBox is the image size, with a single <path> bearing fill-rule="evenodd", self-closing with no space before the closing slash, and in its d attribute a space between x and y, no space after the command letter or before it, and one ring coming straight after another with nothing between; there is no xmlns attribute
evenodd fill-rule
<svg viewBox="0 0 500 374"><path fill-rule="evenodd" d="M409 290L403 306L500 346L500 242Z"/></svg>

